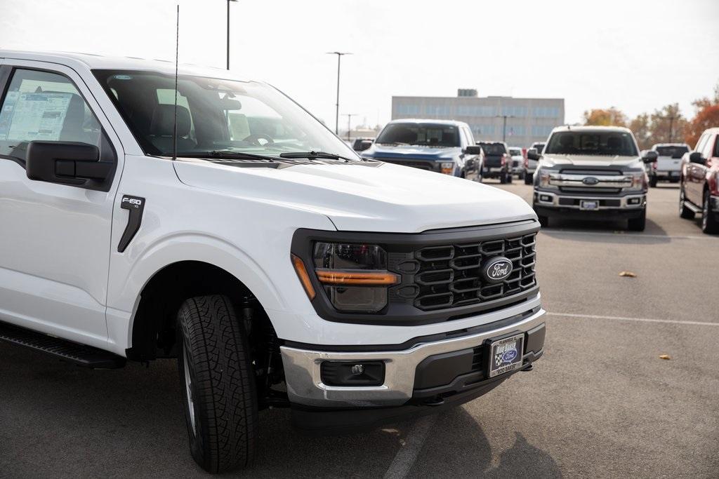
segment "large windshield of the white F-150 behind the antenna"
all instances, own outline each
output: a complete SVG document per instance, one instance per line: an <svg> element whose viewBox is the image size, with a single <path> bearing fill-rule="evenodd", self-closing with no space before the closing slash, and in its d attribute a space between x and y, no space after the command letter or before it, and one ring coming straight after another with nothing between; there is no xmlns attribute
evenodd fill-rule
<svg viewBox="0 0 719 479"><path fill-rule="evenodd" d="M174 75L134 70L93 73L145 153L171 156ZM178 156L219 151L270 157L285 152L357 157L303 108L263 83L180 75L176 124Z"/></svg>

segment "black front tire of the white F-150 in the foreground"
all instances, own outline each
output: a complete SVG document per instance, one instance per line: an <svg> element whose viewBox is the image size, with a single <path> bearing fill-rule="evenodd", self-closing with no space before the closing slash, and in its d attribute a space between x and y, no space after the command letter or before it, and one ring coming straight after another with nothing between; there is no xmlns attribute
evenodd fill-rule
<svg viewBox="0 0 719 479"><path fill-rule="evenodd" d="M178 312L178 368L193 459L208 473L255 456L257 392L247 336L229 298L187 299Z"/></svg>

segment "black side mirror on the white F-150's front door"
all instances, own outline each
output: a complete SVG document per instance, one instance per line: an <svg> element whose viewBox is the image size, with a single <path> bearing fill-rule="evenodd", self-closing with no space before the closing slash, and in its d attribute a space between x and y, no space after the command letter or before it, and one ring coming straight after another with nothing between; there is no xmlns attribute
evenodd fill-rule
<svg viewBox="0 0 719 479"><path fill-rule="evenodd" d="M76 141L30 141L25 170L30 180L86 186L103 182L112 173L112 163L100 162L100 150Z"/></svg>

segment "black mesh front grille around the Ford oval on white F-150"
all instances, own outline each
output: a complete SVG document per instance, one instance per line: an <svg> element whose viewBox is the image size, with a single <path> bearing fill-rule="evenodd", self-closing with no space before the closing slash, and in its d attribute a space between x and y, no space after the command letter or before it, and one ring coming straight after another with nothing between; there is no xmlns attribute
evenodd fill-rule
<svg viewBox="0 0 719 479"><path fill-rule="evenodd" d="M536 233L513 238L426 246L414 252L414 306L423 311L478 304L501 299L536 285L534 262ZM487 259L504 256L512 272L503 282L482 279Z"/></svg>

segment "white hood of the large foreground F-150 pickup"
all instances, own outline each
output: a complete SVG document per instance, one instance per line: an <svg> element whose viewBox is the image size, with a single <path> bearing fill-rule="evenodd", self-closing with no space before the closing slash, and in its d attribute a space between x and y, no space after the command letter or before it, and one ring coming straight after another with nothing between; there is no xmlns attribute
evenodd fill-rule
<svg viewBox="0 0 719 479"><path fill-rule="evenodd" d="M201 159L173 164L186 185L310 210L329 217L341 231L418 233L536 218L529 205L510 192L395 164L270 168Z"/></svg>

